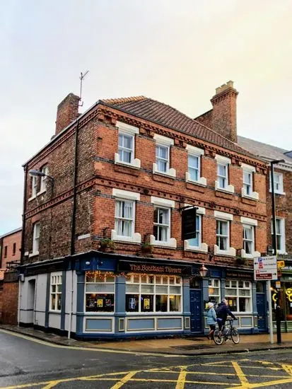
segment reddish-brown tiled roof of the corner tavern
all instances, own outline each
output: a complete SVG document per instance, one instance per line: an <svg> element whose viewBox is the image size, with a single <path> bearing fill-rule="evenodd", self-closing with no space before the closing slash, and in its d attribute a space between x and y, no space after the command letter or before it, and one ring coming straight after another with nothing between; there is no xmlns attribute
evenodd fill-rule
<svg viewBox="0 0 292 389"><path fill-rule="evenodd" d="M111 108L116 108L136 117L140 117L141 119L149 120L180 132L185 132L185 134L189 134L192 137L197 137L212 144L221 146L224 149L235 151L235 153L250 156L251 158L257 158L255 154L247 151L247 149L243 149L243 147L223 137L213 129L204 126L204 124L201 124L197 122L197 120L194 120L175 108L170 107L170 105L160 103L159 101L151 98L136 96L130 98L101 100L101 102Z"/></svg>

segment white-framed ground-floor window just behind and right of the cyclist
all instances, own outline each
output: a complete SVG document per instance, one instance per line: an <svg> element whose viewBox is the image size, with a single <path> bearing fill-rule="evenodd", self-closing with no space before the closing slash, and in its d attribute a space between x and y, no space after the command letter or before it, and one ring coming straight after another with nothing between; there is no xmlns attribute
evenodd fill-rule
<svg viewBox="0 0 292 389"><path fill-rule="evenodd" d="M252 312L252 283L226 279L225 298L233 312Z"/></svg>

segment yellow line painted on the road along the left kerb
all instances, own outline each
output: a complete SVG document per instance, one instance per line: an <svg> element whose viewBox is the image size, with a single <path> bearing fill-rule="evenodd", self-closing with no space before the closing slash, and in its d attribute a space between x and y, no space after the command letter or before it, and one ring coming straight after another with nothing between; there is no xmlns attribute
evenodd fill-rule
<svg viewBox="0 0 292 389"><path fill-rule="evenodd" d="M181 354L160 354L153 352L129 352L124 350L112 350L112 349L103 349L99 347L76 347L76 346L63 346L62 344L49 343L45 340L35 339L34 337L30 337L27 335L19 334L18 332L12 332L8 330L0 329L0 332L4 334L12 335L14 337L21 337L22 339L30 340L30 342L35 342L38 344L43 344L48 347L54 347L55 349L70 349L70 350L80 350L86 352L107 352L111 354L132 354L132 355L146 355L146 356L165 356L166 358L187 358L189 355L181 355Z"/></svg>

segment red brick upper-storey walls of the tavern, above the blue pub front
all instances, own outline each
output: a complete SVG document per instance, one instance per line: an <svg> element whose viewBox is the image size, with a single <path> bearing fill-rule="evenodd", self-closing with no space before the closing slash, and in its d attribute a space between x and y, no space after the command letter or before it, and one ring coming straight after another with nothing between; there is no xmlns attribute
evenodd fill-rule
<svg viewBox="0 0 292 389"><path fill-rule="evenodd" d="M141 120L136 125L140 127L140 134L136 136L135 157L141 160L141 169L117 166L114 164L117 152L117 127L115 114L108 110L107 115L97 117L90 112L83 118L78 134L78 188L76 201L76 252L83 252L90 248L98 248L98 239L103 237L103 230L107 228L106 236L114 227L115 202L112 188L141 193L141 202L136 207L136 232L141 233L142 240L146 234L153 233L153 206L150 204L151 195L175 200L175 210L172 212L171 236L177 239L177 250L154 248L155 257L170 257L173 259L206 260L206 255L183 252L180 240L180 205L196 204L206 208L203 219L202 241L213 250L215 243L214 209L233 214L234 221L231 227L231 246L242 248L242 226L240 216L257 219L259 226L256 233L256 250L266 251L267 239L264 230L266 217L266 176L263 163L247 157L240 157L236 153L226 151L220 146L207 145L192 137L177 134L173 130L157 126L157 131L164 130L175 138L175 146L171 148L171 167L176 169L175 180L152 174L152 165L155 161L156 143L153 140L153 130L148 130L148 123ZM112 116L112 117L111 117ZM99 119L99 120L98 120ZM121 118L119 117L119 120ZM132 117L124 115L124 121ZM185 146L192 141L201 142L205 149L202 157L202 175L207 179L207 187L185 182L187 171L187 151ZM55 146L54 146L55 145ZM229 169L230 183L235 186L235 194L215 192L216 180L215 153L223 153L232 159ZM49 257L68 255L71 238L71 212L74 172L74 132L69 129L66 134L53 141L40 155L30 161L30 168L40 168L44 163L49 167L49 174L54 177L54 193L47 192L26 204L25 222L25 251L31 251L33 221L40 219L40 256L27 260L46 260ZM255 174L255 190L259 192L259 201L242 199L242 169L240 163L257 164ZM28 187L28 194L30 185ZM29 197L29 196L28 196ZM264 232L263 232L264 231ZM78 240L77 237L90 233L90 238ZM117 252L135 254L140 246L133 244L117 244ZM220 263L233 263L233 258L218 257L214 260Z"/></svg>

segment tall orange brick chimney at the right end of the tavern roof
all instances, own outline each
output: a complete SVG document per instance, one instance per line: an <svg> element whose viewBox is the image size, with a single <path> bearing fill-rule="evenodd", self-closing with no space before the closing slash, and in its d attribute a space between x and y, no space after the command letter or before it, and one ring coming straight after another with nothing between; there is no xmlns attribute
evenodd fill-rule
<svg viewBox="0 0 292 389"><path fill-rule="evenodd" d="M238 91L233 88L233 81L228 81L216 88L216 95L211 98L213 105L211 128L218 134L237 142L236 98Z"/></svg>

